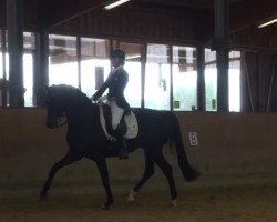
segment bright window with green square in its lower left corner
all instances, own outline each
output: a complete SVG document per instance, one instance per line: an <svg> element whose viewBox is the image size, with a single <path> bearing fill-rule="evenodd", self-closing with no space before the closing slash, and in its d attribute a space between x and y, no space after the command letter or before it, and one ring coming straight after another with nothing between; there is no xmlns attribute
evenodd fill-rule
<svg viewBox="0 0 277 222"><path fill-rule="evenodd" d="M173 46L173 109L194 110L197 107L196 49Z"/></svg>

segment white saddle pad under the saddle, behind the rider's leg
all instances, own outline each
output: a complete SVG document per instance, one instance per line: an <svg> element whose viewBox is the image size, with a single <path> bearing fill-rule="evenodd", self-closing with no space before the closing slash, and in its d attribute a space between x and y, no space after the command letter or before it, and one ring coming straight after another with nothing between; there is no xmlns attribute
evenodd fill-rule
<svg viewBox="0 0 277 222"><path fill-rule="evenodd" d="M106 135L106 138L111 141L116 141L116 138L112 137L107 130L106 130L106 125L105 125L105 118L104 118L104 111L103 111L103 104L99 104L99 113L100 113L100 122L101 122L101 127ZM124 117L126 127L127 127L127 131L124 134L125 139L134 139L136 138L137 133L138 133L138 124L137 124L137 120L135 114L131 111L131 114L125 115Z"/></svg>

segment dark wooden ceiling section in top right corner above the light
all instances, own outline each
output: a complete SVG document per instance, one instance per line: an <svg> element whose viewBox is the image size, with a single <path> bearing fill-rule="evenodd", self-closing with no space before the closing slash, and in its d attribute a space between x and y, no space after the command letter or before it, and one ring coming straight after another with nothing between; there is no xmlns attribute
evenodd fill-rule
<svg viewBox="0 0 277 222"><path fill-rule="evenodd" d="M229 31L237 32L253 24L259 24L277 16L276 0L244 0L233 3L229 8Z"/></svg>

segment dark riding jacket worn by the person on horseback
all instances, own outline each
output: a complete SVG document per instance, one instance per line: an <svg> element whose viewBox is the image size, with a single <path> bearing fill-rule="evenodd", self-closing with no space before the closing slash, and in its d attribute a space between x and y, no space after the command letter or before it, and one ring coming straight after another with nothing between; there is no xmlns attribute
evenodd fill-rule
<svg viewBox="0 0 277 222"><path fill-rule="evenodd" d="M93 94L93 100L98 100L104 91L109 88L107 100L115 100L116 104L124 109L129 110L130 105L124 97L124 90L129 81L129 74L123 69L123 67L115 68L103 83L103 85Z"/></svg>

